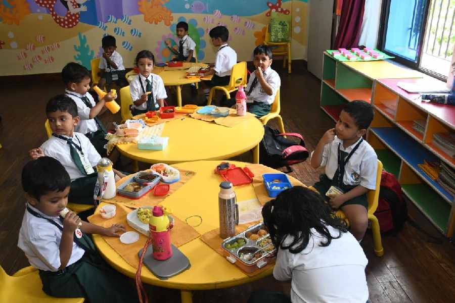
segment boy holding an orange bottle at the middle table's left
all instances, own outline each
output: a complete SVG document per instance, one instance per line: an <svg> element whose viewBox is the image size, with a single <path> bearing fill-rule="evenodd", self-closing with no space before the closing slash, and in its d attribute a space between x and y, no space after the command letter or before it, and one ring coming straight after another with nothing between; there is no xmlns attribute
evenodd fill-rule
<svg viewBox="0 0 455 303"><path fill-rule="evenodd" d="M74 100L77 106L77 114L80 122L75 130L84 134L95 146L102 157L106 157L107 151L104 147L107 144L105 139L107 130L97 116L102 111L106 102L113 98L107 94L103 99L95 103L90 88L90 72L80 64L70 62L62 70L62 79L65 83L65 94Z"/></svg>

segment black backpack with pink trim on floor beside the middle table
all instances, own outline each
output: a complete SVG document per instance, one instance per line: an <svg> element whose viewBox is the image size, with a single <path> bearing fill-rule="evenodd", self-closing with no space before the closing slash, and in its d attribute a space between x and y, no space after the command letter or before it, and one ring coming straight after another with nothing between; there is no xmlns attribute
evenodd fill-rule
<svg viewBox="0 0 455 303"><path fill-rule="evenodd" d="M296 137L299 143L296 144L283 136ZM277 129L264 125L264 137L259 143L259 163L271 168L279 168L303 162L308 156L301 134L281 134Z"/></svg>

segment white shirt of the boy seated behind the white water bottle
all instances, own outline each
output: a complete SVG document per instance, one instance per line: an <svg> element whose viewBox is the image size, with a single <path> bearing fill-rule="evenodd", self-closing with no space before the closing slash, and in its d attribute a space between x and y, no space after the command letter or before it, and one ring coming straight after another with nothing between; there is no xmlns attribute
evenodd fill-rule
<svg viewBox="0 0 455 303"><path fill-rule="evenodd" d="M81 157L80 159L82 164L85 159L90 162L92 167L97 166L98 162L101 160L101 156L98 154L98 151L95 149L92 142L90 142L85 135L76 132L73 133L73 142L82 148L82 153L84 154L83 157L79 149L76 148L77 153ZM83 175L77 168L76 164L74 164L74 161L71 158L71 150L66 140L52 136L47 141L42 143L41 149L44 155L60 161L70 175L71 181L86 176Z"/></svg>

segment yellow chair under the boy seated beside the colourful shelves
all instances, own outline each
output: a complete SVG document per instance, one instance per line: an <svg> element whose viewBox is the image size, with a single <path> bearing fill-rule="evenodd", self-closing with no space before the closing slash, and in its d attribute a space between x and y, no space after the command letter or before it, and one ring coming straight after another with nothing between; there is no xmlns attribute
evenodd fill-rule
<svg viewBox="0 0 455 303"><path fill-rule="evenodd" d="M373 232L373 246L375 249L375 254L378 257L382 257L384 255L384 248L382 247L382 239L381 239L381 231L379 229L379 221L378 218L375 216L376 209L378 208L379 202L379 187L381 185L381 176L382 176L382 162L378 160L378 170L376 173L376 189L369 190L367 193L368 199L368 221L371 222L371 230ZM317 192L317 190L310 186L309 189L312 189ZM343 211L337 211L336 215L341 219L346 221L347 225L349 226L349 221L344 215Z"/></svg>

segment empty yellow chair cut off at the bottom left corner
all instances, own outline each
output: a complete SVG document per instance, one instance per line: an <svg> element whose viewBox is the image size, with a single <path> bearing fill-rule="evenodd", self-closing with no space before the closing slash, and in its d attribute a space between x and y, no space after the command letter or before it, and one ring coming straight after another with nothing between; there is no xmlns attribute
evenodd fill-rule
<svg viewBox="0 0 455 303"><path fill-rule="evenodd" d="M2 302L82 303L84 298L56 298L42 291L38 270L31 266L9 276L0 267L0 298Z"/></svg>

